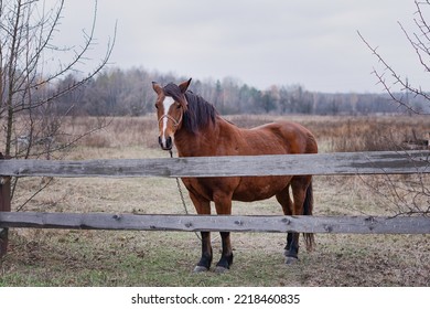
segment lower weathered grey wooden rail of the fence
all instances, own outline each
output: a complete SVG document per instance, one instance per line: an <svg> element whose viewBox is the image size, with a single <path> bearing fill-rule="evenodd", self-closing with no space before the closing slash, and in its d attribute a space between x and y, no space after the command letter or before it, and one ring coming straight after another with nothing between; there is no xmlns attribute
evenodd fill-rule
<svg viewBox="0 0 430 309"><path fill-rule="evenodd" d="M429 217L0 213L4 227L181 232L429 234Z"/></svg>

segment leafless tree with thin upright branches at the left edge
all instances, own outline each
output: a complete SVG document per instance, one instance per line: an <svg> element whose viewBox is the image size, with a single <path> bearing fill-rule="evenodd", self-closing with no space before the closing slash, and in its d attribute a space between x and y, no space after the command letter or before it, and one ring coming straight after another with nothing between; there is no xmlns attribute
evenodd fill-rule
<svg viewBox="0 0 430 309"><path fill-rule="evenodd" d="M92 79L108 63L116 34L108 40L99 62L89 65L89 53L96 45L97 1L94 2L89 30L83 30L79 45L57 46L55 34L61 33L64 0L47 7L43 0L0 0L0 145L6 157L50 159L55 151L74 145L79 136L62 137L64 116L71 105L58 114L56 102ZM62 61L67 54L68 61ZM49 57L55 67L47 67ZM54 61L52 61L54 60ZM60 83L68 74L77 75L86 66L85 77L73 83ZM88 67L92 67L88 71ZM12 182L14 192L17 179ZM13 193L12 193L13 194Z"/></svg>

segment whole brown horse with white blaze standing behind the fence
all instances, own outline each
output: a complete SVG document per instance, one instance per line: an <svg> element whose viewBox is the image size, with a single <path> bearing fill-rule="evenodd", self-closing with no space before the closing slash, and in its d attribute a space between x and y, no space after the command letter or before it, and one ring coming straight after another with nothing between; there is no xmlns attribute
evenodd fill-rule
<svg viewBox="0 0 430 309"><path fill-rule="evenodd" d="M287 121L241 129L223 119L213 105L189 92L191 78L164 87L152 83L157 93L159 143L179 157L258 156L316 153L314 136L304 127ZM312 214L312 175L183 178L198 214L211 214L211 202L217 214L232 213L232 200L258 201L276 195L286 215ZM290 198L290 188L293 201ZM229 232L221 232L223 252L215 271L229 269L233 252ZM308 249L313 234L304 234ZM288 233L286 263L298 259L299 233ZM212 263L209 232L202 232L202 258L194 271L208 270Z"/></svg>

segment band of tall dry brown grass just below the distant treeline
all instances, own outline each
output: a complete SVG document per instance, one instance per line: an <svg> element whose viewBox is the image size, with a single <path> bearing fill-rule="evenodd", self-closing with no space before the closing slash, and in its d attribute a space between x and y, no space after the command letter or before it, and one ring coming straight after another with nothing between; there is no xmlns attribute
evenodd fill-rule
<svg viewBox="0 0 430 309"><path fill-rule="evenodd" d="M320 152L398 150L405 140L427 138L430 132L429 116L226 116L227 120L243 128L251 128L270 121L291 120L308 127L316 137ZM146 117L68 118L65 131L79 136L85 131L108 124L104 129L86 136L79 145L88 148L144 147L158 149L155 115Z"/></svg>

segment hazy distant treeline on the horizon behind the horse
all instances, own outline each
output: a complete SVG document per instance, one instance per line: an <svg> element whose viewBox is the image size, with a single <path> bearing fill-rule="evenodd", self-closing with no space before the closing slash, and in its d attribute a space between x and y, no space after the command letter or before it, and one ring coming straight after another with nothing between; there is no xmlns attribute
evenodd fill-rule
<svg viewBox="0 0 430 309"><path fill-rule="evenodd" d="M192 77L192 76L191 76ZM68 92L55 100L61 115L143 116L154 111L155 95L152 81L162 85L182 82L186 77L148 72L143 68L110 68L98 74L84 87ZM68 75L44 90L67 88L76 83ZM215 105L222 115L232 114L308 114L308 115L369 115L398 114L405 110L385 94L318 93L301 85L271 86L258 89L238 79L193 79L191 90ZM398 94L407 98L408 94ZM428 102L410 96L410 103L429 111Z"/></svg>

